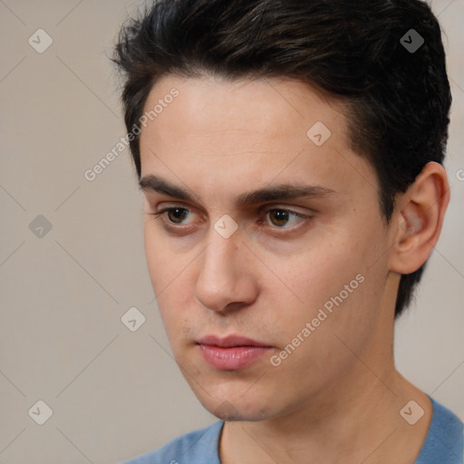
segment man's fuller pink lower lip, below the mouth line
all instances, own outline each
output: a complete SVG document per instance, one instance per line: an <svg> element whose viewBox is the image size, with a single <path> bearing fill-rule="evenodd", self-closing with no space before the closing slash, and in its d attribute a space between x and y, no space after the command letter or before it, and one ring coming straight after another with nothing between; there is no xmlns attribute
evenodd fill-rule
<svg viewBox="0 0 464 464"><path fill-rule="evenodd" d="M199 344L205 361L215 369L237 371L255 362L270 348L266 346L233 346L223 348L213 344Z"/></svg>

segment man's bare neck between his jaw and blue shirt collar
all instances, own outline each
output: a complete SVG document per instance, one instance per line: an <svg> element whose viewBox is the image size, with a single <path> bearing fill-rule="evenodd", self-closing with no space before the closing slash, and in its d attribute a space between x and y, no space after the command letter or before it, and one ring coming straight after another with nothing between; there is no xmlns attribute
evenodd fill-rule
<svg viewBox="0 0 464 464"><path fill-rule="evenodd" d="M411 464L429 429L430 401L396 371L391 372L388 388L370 374L362 394L343 382L343 389L333 386L333 391L324 391L284 417L226 422L219 446L221 463L334 464L343 457L345 464ZM425 410L414 426L400 415L411 400Z"/></svg>

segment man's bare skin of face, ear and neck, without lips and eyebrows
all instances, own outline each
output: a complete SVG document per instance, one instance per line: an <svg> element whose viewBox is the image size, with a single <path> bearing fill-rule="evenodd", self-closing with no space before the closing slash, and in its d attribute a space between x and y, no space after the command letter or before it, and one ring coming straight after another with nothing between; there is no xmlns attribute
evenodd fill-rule
<svg viewBox="0 0 464 464"><path fill-rule="evenodd" d="M419 268L440 235L444 169L429 163L387 225L340 102L284 79L168 75L145 109L172 88L179 97L141 131L141 177L166 179L193 200L143 189L145 249L176 361L204 407L227 420L221 462L413 463L432 408L395 369L394 303L401 273ZM306 136L316 121L332 132L320 147ZM242 193L295 182L332 193L237 204ZM152 214L164 208L186 216ZM237 224L228 238L214 228L225 214ZM343 304L272 365L356 275L363 281ZM196 343L206 334L271 348L245 369L220 371ZM400 415L411 400L424 410L414 425Z"/></svg>

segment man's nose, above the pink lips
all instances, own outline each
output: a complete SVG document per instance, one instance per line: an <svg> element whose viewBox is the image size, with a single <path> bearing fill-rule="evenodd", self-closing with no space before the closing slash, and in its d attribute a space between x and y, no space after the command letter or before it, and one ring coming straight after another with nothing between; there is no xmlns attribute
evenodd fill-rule
<svg viewBox="0 0 464 464"><path fill-rule="evenodd" d="M224 238L211 228L208 238L195 286L198 302L218 313L253 303L257 295L256 276L252 271L254 256L238 231Z"/></svg>

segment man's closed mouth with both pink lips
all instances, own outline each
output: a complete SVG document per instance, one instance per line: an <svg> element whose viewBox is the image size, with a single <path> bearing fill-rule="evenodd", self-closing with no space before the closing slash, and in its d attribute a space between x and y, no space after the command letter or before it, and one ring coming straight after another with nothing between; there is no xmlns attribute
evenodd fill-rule
<svg viewBox="0 0 464 464"><path fill-rule="evenodd" d="M245 369L272 349L266 343L239 335L224 338L207 335L197 344L205 362L219 371Z"/></svg>

